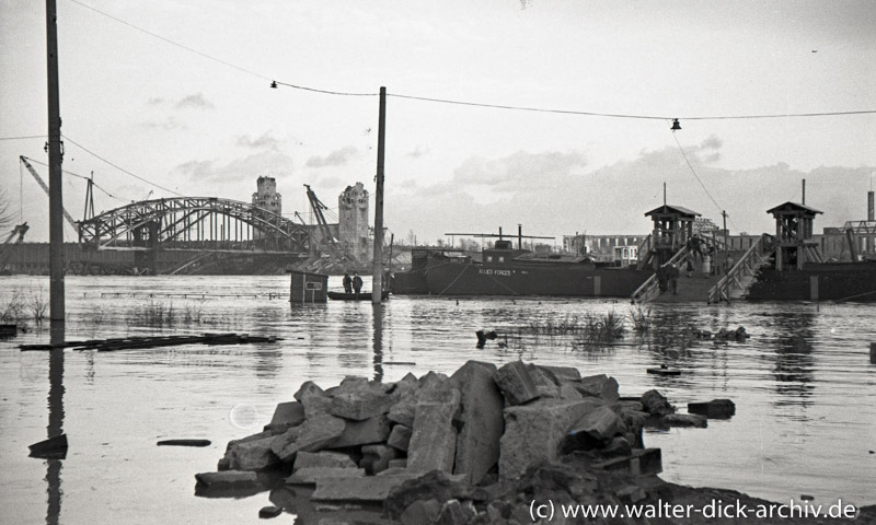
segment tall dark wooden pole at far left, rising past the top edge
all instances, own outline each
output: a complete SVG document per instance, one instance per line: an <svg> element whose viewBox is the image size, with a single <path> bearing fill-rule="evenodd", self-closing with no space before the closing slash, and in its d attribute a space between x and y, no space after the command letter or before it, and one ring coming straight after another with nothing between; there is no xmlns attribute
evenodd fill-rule
<svg viewBox="0 0 876 525"><path fill-rule="evenodd" d="M48 265L51 345L64 345L64 194L61 191L61 110L58 81L58 13L46 0L48 78Z"/></svg>

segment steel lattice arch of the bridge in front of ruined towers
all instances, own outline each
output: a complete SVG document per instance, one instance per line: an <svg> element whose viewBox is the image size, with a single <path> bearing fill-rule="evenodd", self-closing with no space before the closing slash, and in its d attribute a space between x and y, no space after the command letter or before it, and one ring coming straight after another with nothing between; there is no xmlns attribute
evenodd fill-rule
<svg viewBox="0 0 876 525"><path fill-rule="evenodd" d="M94 249L148 249L170 243L200 243L198 249L210 249L235 242L306 253L309 237L306 226L283 215L217 197L145 200L79 223L79 242Z"/></svg>

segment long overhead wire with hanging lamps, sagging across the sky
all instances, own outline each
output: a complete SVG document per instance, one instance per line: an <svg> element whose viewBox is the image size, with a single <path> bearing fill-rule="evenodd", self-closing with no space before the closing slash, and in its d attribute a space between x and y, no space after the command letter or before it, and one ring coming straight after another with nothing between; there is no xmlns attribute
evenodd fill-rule
<svg viewBox="0 0 876 525"><path fill-rule="evenodd" d="M78 0L69 0L77 5L81 5L90 11L93 11L97 14L106 16L119 24L126 25L135 31L149 35L153 38L158 38L166 44L172 46L178 47L185 51L195 54L201 58L206 58L207 60L220 63L228 68L235 69L243 73L250 74L252 77L256 77L262 80L270 80L270 86L277 88L279 85L286 88L292 88L296 90L309 91L313 93L322 93L326 95L335 95L335 96L378 96L377 92L344 92L344 91L336 91L336 90L326 90L320 88L312 88L301 84L293 84L289 82L280 82L278 80L274 80L270 77L265 74L258 73L251 69L243 68L235 63L229 62L227 60L222 60L221 58L217 58L212 55L206 54L204 51L199 51L193 47L186 46L178 42L175 42L171 38L165 36L161 36L157 33L151 31L145 30L139 27L130 22L122 20L117 16L113 16L112 14L105 13L99 9L95 9L91 5L82 3ZM666 120L666 119L683 119L683 120L731 120L731 119L760 119L760 118L800 118L800 117L828 117L828 116L841 116L841 115L869 115L876 114L876 109L862 109L862 110L848 110L848 112L811 112L811 113L776 113L776 114L764 114L764 115L711 115L711 116L680 116L680 115L639 115L639 114L625 114L625 113L608 113L608 112L587 112L587 110L577 110L577 109L564 109L564 108L546 108L546 107L528 107L528 106L515 106L508 104L497 104L497 103L480 103L480 102L470 102L470 101L454 101L449 98L438 98L438 97L428 97L428 96L418 96L418 95L407 95L402 93L387 93L387 96L394 96L396 98L407 98L411 101L420 101L420 102L431 102L437 104L452 104L459 106L470 106L470 107L486 107L493 109L505 109L505 110L516 110L516 112L534 112L534 113L553 113L553 114L561 114L561 115L578 115L578 116L589 116L589 117L606 117L606 118L627 118L627 119L647 119L647 120Z"/></svg>

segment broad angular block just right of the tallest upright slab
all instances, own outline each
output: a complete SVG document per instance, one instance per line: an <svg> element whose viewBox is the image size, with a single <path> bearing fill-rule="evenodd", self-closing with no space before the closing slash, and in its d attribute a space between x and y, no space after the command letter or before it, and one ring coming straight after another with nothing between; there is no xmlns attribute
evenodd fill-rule
<svg viewBox="0 0 876 525"><path fill-rule="evenodd" d="M558 457L560 444L573 424L603 401L541 399L526 406L506 408L502 435L499 478L520 478L531 465Z"/></svg>

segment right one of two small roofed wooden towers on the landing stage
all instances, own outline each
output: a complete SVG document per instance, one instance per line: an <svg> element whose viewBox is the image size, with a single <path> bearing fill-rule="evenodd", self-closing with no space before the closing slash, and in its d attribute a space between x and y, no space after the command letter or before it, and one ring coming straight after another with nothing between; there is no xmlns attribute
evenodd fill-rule
<svg viewBox="0 0 876 525"><path fill-rule="evenodd" d="M818 242L814 240L815 215L820 210L800 205L785 202L766 213L775 218L775 269L802 270L806 262L821 262Z"/></svg>

